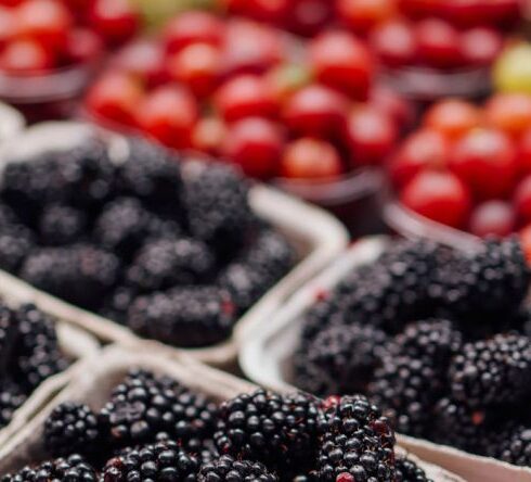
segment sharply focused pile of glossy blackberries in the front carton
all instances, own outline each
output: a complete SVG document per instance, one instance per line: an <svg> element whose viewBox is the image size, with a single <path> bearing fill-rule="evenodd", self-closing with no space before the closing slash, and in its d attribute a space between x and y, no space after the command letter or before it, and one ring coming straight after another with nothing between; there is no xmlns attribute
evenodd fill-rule
<svg viewBox="0 0 531 482"><path fill-rule="evenodd" d="M428 482L394 444L362 395L322 402L257 390L217 404L133 369L99 411L59 405L43 427L52 459L1 481Z"/></svg>

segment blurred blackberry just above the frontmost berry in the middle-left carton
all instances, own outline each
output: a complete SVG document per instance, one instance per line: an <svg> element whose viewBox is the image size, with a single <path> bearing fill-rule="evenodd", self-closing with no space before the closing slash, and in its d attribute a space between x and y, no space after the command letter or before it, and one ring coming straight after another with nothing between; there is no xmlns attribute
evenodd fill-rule
<svg viewBox="0 0 531 482"><path fill-rule="evenodd" d="M128 283L142 291L205 281L216 259L206 244L190 238L147 242L127 272Z"/></svg>

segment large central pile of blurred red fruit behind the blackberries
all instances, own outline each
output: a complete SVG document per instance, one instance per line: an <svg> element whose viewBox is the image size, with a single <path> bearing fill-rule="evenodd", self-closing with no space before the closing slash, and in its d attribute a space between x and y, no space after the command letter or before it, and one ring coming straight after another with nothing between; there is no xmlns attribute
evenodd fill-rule
<svg viewBox="0 0 531 482"><path fill-rule="evenodd" d="M332 30L308 42L250 20L186 12L120 52L86 110L268 179L331 178L381 163L410 109L374 86L364 42Z"/></svg>

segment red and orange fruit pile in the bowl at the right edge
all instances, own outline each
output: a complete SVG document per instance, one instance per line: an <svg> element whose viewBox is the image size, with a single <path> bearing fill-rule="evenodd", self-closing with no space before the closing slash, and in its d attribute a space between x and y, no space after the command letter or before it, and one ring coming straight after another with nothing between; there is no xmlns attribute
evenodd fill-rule
<svg viewBox="0 0 531 482"><path fill-rule="evenodd" d="M531 225L531 97L435 104L389 169L402 204L438 223L480 237Z"/></svg>

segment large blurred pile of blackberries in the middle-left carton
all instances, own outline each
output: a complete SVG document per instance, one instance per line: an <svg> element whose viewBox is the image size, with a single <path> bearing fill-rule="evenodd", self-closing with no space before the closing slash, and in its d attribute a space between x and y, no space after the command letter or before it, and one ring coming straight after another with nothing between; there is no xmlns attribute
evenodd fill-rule
<svg viewBox="0 0 531 482"><path fill-rule="evenodd" d="M294 251L252 213L236 170L186 170L177 154L127 142L119 162L99 140L8 162L0 268L142 337L219 343Z"/></svg>

